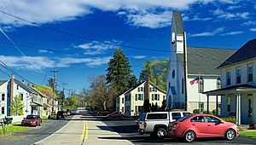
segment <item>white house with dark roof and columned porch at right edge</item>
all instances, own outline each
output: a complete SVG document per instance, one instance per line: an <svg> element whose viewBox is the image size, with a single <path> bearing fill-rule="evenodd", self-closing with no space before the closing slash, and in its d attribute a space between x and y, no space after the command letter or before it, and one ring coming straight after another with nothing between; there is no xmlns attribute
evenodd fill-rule
<svg viewBox="0 0 256 145"><path fill-rule="evenodd" d="M236 116L236 124L256 124L256 39L244 44L225 60L221 71L222 88L205 92L221 96L221 115Z"/></svg>

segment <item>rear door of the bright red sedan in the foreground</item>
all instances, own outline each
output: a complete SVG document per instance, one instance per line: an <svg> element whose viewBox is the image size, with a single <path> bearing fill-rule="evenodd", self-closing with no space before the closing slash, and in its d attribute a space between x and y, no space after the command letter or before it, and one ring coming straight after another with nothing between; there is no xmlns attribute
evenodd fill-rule
<svg viewBox="0 0 256 145"><path fill-rule="evenodd" d="M207 128L207 121L203 115L197 115L190 119L191 128L195 129L196 136L198 137L207 137L206 128Z"/></svg>

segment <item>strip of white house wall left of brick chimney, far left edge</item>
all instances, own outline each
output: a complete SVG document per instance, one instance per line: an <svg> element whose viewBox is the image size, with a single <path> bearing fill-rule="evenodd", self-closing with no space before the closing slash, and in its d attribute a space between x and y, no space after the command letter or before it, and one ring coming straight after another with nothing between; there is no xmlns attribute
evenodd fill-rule
<svg viewBox="0 0 256 145"><path fill-rule="evenodd" d="M8 80L0 81L0 119L7 116Z"/></svg>

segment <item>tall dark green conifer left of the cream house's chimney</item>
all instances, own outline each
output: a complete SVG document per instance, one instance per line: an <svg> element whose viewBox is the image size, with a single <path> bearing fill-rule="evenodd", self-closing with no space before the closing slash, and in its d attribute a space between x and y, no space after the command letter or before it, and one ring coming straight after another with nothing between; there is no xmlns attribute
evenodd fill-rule
<svg viewBox="0 0 256 145"><path fill-rule="evenodd" d="M120 94L136 84L135 76L131 76L131 66L121 49L116 49L113 59L108 62L107 84Z"/></svg>

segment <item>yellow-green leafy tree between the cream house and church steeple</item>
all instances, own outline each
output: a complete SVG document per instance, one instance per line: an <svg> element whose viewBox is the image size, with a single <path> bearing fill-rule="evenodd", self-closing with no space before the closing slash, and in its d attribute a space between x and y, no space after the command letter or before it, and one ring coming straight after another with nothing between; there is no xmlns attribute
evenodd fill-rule
<svg viewBox="0 0 256 145"><path fill-rule="evenodd" d="M164 61L146 61L139 80L150 80L162 90L166 90L166 73L169 59Z"/></svg>

